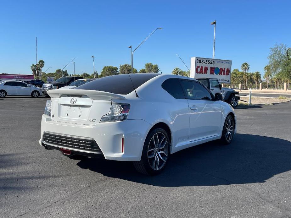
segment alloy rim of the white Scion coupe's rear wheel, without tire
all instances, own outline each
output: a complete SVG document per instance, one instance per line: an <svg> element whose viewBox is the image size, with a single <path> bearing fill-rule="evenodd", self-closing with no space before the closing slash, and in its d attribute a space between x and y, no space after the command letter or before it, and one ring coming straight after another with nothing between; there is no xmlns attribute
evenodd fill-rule
<svg viewBox="0 0 291 218"><path fill-rule="evenodd" d="M148 163L154 170L161 169L169 154L168 140L163 133L156 133L148 144Z"/></svg>

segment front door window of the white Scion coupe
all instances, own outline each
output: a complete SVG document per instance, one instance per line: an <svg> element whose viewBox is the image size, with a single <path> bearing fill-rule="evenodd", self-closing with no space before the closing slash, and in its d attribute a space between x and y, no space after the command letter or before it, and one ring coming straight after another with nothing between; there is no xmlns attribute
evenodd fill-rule
<svg viewBox="0 0 291 218"><path fill-rule="evenodd" d="M180 80L187 99L212 100L210 92L199 82Z"/></svg>

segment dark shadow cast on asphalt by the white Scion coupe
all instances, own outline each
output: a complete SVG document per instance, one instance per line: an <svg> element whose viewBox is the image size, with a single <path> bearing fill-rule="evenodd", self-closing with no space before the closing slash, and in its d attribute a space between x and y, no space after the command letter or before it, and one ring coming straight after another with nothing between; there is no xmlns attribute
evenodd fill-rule
<svg viewBox="0 0 291 218"><path fill-rule="evenodd" d="M161 187L264 183L291 170L290 148L284 139L236 134L229 145L213 141L172 154L166 169L153 177L137 173L130 162L88 158L77 165L106 177Z"/></svg>

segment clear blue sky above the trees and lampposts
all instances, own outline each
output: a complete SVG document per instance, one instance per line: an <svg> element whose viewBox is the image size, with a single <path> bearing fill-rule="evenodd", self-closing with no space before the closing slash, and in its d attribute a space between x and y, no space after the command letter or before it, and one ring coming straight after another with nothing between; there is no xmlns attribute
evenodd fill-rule
<svg viewBox="0 0 291 218"><path fill-rule="evenodd" d="M191 57L212 57L213 25L217 20L215 57L243 62L250 72L263 73L269 48L291 47L291 1L2 1L0 8L0 73L31 74L38 59L43 71L63 68L73 57L76 73L130 63L130 49L157 30L134 56L134 68L158 64L162 73L179 67L175 54L190 68ZM73 64L67 68L73 73Z"/></svg>

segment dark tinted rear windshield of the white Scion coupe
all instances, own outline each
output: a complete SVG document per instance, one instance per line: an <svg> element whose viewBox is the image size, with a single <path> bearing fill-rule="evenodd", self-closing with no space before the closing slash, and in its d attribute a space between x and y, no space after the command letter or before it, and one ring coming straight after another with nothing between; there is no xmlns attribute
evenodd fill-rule
<svg viewBox="0 0 291 218"><path fill-rule="evenodd" d="M158 75L160 74L130 74L132 82L130 81L128 74L106 76L100 79L95 79L90 83L80 85L75 89L97 90L114 94L127 95L134 90L132 83L137 89L139 86Z"/></svg>

